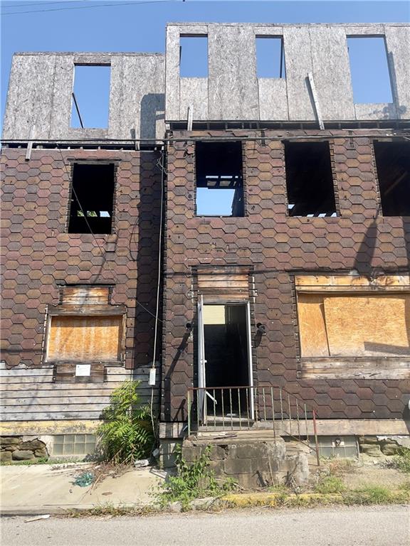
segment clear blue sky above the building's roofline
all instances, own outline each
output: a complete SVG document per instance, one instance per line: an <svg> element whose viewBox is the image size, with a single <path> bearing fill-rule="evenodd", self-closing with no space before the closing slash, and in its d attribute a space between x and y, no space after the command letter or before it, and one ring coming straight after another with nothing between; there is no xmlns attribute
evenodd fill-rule
<svg viewBox="0 0 410 546"><path fill-rule="evenodd" d="M172 21L371 23L410 19L408 1L1 0L0 5L1 119L16 51L161 53L165 25Z"/></svg>

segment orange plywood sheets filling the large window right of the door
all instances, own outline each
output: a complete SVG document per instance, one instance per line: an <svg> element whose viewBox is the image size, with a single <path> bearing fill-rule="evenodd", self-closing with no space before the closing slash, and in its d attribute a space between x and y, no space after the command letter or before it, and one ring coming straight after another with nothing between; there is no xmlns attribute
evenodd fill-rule
<svg viewBox="0 0 410 546"><path fill-rule="evenodd" d="M410 355L410 294L298 293L303 357Z"/></svg>

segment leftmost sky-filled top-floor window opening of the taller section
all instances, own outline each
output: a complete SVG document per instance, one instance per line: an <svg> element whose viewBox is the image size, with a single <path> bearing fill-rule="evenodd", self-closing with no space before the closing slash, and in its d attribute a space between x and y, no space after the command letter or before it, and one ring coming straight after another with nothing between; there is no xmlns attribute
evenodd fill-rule
<svg viewBox="0 0 410 546"><path fill-rule="evenodd" d="M208 77L208 36L179 38L179 75Z"/></svg>

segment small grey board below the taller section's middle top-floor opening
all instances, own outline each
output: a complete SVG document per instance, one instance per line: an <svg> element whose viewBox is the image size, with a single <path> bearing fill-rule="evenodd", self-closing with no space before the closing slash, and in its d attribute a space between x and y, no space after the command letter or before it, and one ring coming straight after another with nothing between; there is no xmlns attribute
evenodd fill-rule
<svg viewBox="0 0 410 546"><path fill-rule="evenodd" d="M289 119L286 80L284 78L259 77L259 119L262 121Z"/></svg>

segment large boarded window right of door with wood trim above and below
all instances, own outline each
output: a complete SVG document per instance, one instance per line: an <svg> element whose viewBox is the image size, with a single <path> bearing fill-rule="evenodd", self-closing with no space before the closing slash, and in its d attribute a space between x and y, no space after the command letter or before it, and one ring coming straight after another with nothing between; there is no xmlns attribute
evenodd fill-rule
<svg viewBox="0 0 410 546"><path fill-rule="evenodd" d="M410 378L407 281L296 277L302 377Z"/></svg>

